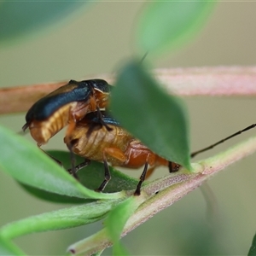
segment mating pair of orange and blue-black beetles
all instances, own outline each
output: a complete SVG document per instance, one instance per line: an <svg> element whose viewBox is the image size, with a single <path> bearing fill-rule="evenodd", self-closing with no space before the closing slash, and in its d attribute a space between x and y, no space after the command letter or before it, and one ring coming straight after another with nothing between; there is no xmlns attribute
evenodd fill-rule
<svg viewBox="0 0 256 256"><path fill-rule="evenodd" d="M154 154L125 131L117 120L100 111L108 106L110 91L111 85L102 79L71 80L32 105L26 113L26 124L22 129L29 128L40 147L67 126L64 139L67 148L86 160L104 163L105 179L97 189L99 191L110 179L108 162L128 168L144 166L135 192L139 195L147 171L150 175L156 166L169 166L170 172L176 172L179 165ZM149 170L148 165L152 166ZM73 175L76 176L74 172Z"/></svg>

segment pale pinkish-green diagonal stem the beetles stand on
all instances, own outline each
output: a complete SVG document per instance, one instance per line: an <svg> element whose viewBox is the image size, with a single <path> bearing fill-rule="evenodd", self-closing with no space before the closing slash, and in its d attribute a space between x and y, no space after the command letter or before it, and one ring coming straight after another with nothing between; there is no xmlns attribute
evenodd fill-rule
<svg viewBox="0 0 256 256"><path fill-rule="evenodd" d="M125 236L127 233L131 232L131 230L134 230L137 226L147 221L148 218L152 218L154 214L171 206L175 201L183 198L184 195L192 192L199 187L201 183L207 181L209 177L224 170L226 166L230 166L249 154L253 154L255 151L256 137L251 137L247 139L247 141L236 144L236 146L220 154L216 154L207 160L201 160L193 164L194 172L192 173L181 170L181 172L177 174L170 174L149 183L143 188L143 193L151 195L151 197L149 197L148 201L144 201L143 204L138 207L135 214L131 216L125 224L125 229L121 236ZM159 190L160 192L155 195ZM103 229L93 236L78 241L70 246L69 252L91 255L111 245L112 243L109 241L106 230Z"/></svg>

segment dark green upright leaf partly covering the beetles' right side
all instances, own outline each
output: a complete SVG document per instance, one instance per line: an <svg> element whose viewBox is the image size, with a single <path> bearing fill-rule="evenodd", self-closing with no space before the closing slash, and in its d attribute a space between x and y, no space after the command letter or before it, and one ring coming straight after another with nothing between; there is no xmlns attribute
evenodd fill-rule
<svg viewBox="0 0 256 256"><path fill-rule="evenodd" d="M119 73L110 108L121 125L154 153L191 169L184 103L167 95L141 64L131 62Z"/></svg>

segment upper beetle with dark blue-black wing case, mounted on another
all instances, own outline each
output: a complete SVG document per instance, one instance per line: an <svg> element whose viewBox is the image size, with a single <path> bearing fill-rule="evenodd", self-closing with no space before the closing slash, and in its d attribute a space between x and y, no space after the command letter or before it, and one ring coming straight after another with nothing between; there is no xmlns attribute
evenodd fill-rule
<svg viewBox="0 0 256 256"><path fill-rule="evenodd" d="M108 105L110 90L111 85L102 79L80 82L70 80L68 84L32 105L26 113L26 124L23 125L22 130L30 129L38 147L47 143L66 125L69 134L75 123L83 119L86 113L97 111L100 116L99 109Z"/></svg>

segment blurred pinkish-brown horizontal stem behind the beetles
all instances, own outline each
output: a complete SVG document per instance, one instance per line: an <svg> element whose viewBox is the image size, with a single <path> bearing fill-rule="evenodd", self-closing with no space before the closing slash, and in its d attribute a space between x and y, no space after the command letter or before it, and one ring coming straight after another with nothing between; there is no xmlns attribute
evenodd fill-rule
<svg viewBox="0 0 256 256"><path fill-rule="evenodd" d="M256 67L161 68L154 76L169 93L179 96L255 96ZM114 77L96 75L113 84ZM91 79L89 77L85 79ZM27 111L39 98L67 81L0 89L0 114Z"/></svg>

